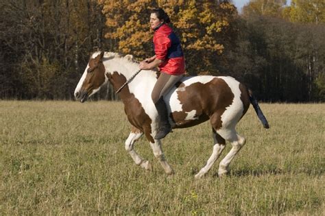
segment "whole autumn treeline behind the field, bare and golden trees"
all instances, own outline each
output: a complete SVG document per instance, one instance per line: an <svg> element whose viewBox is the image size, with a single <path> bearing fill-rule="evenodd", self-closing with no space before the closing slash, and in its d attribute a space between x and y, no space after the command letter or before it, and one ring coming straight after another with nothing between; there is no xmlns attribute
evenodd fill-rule
<svg viewBox="0 0 325 216"><path fill-rule="evenodd" d="M149 11L171 16L190 75L232 75L263 101L325 101L325 3L3 0L0 97L72 99L90 53L153 55ZM97 98L115 99L108 86Z"/></svg>

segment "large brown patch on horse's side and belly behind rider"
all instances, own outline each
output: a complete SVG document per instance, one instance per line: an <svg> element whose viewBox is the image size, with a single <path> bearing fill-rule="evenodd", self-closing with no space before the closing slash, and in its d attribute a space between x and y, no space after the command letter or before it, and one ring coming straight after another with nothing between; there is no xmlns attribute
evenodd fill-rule
<svg viewBox="0 0 325 216"><path fill-rule="evenodd" d="M178 86L183 87L184 84ZM177 92L182 111L171 113L171 119L176 123L175 128L191 127L208 119L215 130L221 128L221 115L234 99L228 84L216 77L206 84L196 82L184 88L185 91ZM188 113L193 110L195 119L186 119Z"/></svg>

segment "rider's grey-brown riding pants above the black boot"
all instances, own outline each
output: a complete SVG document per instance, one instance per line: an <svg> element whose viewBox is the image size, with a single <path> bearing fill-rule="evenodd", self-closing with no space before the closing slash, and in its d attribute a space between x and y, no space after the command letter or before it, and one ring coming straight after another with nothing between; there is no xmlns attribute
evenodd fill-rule
<svg viewBox="0 0 325 216"><path fill-rule="evenodd" d="M154 104L156 104L160 97L165 96L182 77L183 75L170 75L161 72L152 90L152 101L154 101Z"/></svg>

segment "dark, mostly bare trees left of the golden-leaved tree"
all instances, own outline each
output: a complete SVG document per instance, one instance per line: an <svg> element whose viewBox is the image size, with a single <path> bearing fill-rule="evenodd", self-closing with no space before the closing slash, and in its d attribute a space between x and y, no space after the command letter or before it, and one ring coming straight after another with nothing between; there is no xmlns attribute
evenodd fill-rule
<svg viewBox="0 0 325 216"><path fill-rule="evenodd" d="M2 91L18 98L71 98L89 53L105 48L97 1L3 0L0 15Z"/></svg>

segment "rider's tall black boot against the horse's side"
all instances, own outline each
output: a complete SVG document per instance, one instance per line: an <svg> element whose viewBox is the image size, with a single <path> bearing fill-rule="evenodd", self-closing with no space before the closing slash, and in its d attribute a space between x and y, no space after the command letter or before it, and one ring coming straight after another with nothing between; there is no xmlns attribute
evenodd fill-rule
<svg viewBox="0 0 325 216"><path fill-rule="evenodd" d="M168 112L163 97L160 97L154 106L156 106L160 118L160 128L154 139L163 139L169 132L171 132L171 125L168 121Z"/></svg>

